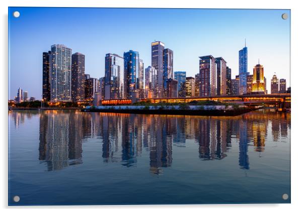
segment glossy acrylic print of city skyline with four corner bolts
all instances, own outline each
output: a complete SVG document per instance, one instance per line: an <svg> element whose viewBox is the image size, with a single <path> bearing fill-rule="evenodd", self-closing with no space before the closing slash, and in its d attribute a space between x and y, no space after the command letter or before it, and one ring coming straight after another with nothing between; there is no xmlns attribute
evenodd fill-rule
<svg viewBox="0 0 303 213"><path fill-rule="evenodd" d="M8 16L9 205L290 203L290 10Z"/></svg>

